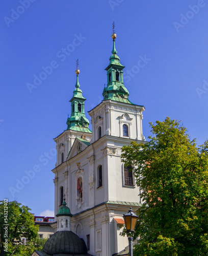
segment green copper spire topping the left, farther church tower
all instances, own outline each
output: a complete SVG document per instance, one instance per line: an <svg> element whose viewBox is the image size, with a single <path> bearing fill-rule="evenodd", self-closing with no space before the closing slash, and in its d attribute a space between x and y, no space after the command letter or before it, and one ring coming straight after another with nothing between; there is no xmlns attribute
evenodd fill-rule
<svg viewBox="0 0 208 256"><path fill-rule="evenodd" d="M67 130L92 133L88 128L89 121L85 116L85 100L86 98L82 95L79 83L79 60L76 60L76 84L73 91L73 97L70 99L71 102L71 116L67 118Z"/></svg>

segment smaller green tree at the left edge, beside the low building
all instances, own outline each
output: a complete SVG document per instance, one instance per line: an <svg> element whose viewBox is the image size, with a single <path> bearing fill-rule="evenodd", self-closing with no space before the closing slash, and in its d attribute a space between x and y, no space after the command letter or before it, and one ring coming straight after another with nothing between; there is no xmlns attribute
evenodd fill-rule
<svg viewBox="0 0 208 256"><path fill-rule="evenodd" d="M38 226L35 226L34 216L29 212L30 210L28 206L16 201L0 201L1 256L15 255L15 251L18 251L22 245L22 236L28 238L29 242L37 237ZM7 244L8 249L6 249Z"/></svg>

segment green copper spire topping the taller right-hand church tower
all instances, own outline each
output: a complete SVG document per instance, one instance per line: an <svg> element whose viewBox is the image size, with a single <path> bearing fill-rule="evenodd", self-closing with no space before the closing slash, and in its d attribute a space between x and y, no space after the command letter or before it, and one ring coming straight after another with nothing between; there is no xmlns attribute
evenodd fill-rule
<svg viewBox="0 0 208 256"><path fill-rule="evenodd" d="M113 34L111 36L113 38L113 50L110 57L109 66L106 68L108 83L107 87L105 87L102 92L103 100L111 99L132 104L132 102L128 100L128 90L123 84L123 69L125 67L121 65L120 58L117 55L115 46L115 40L117 35L114 29L115 24L113 22Z"/></svg>

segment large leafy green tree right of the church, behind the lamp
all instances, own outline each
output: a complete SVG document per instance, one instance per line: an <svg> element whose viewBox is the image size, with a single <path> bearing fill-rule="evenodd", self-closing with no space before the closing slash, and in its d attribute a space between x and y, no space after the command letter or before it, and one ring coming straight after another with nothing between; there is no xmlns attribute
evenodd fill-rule
<svg viewBox="0 0 208 256"><path fill-rule="evenodd" d="M208 141L168 117L150 127L149 142L122 148L143 200L134 255L208 255Z"/></svg>

